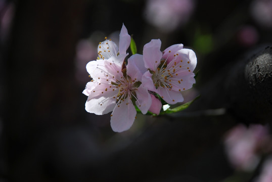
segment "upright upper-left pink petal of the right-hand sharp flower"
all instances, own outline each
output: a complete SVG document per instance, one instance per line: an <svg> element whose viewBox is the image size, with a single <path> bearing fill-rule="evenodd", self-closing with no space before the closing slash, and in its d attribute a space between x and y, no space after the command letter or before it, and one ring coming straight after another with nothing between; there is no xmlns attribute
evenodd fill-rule
<svg viewBox="0 0 272 182"><path fill-rule="evenodd" d="M160 39L152 39L150 42L144 45L143 56L146 68L149 68L153 71L157 69L162 57L162 52L160 51L160 48Z"/></svg>

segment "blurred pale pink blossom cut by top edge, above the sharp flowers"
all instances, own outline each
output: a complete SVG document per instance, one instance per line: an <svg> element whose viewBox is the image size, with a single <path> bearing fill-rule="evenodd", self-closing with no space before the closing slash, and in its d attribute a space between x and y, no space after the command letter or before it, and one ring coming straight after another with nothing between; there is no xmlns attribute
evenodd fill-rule
<svg viewBox="0 0 272 182"><path fill-rule="evenodd" d="M149 0L144 16L163 32L171 32L188 22L195 9L194 0Z"/></svg>

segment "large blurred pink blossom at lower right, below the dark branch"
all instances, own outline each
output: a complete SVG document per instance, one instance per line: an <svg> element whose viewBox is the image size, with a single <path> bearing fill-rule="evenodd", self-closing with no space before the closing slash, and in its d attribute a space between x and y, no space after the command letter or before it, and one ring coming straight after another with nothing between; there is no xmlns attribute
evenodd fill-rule
<svg viewBox="0 0 272 182"><path fill-rule="evenodd" d="M254 124L249 127L239 124L225 138L226 154L237 170L251 171L260 161L258 150L268 137L268 128Z"/></svg>

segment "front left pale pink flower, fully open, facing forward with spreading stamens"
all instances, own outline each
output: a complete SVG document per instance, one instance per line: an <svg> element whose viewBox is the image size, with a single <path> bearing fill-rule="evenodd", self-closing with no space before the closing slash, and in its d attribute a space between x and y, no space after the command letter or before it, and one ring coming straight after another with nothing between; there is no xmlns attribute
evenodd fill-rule
<svg viewBox="0 0 272 182"><path fill-rule="evenodd" d="M122 132L131 127L137 111L134 104L146 114L152 100L148 90L141 84L142 73L137 57L128 59L126 68L122 63L126 55L112 56L109 59L90 61L86 69L92 81L86 84L83 94L88 96L85 110L97 115L111 111L111 127Z"/></svg>

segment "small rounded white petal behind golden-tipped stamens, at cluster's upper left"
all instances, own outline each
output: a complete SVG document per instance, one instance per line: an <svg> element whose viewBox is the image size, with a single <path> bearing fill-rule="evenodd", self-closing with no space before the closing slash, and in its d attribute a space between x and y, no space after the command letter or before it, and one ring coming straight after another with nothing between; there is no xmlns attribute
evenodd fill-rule
<svg viewBox="0 0 272 182"><path fill-rule="evenodd" d="M112 40L100 42L97 48L99 59L109 59L112 56L117 56L118 47Z"/></svg>

